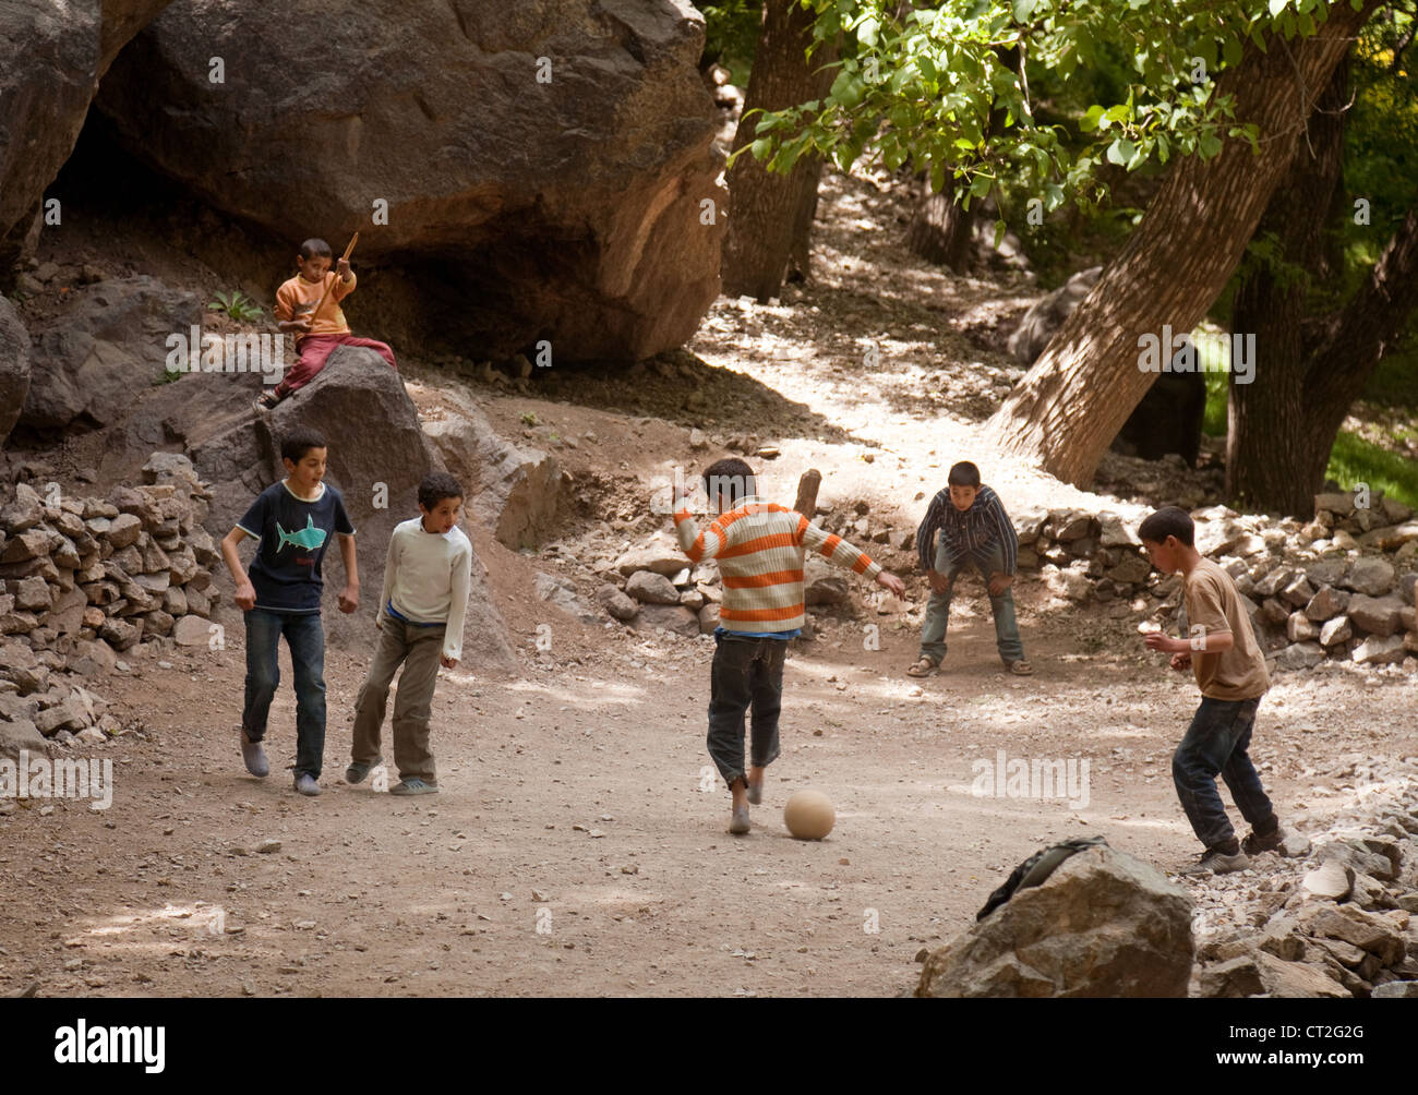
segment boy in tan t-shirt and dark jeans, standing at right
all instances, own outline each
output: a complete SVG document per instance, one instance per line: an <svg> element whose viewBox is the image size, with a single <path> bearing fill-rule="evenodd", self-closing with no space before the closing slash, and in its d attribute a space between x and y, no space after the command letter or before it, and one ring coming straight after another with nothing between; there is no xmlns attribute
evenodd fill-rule
<svg viewBox="0 0 1418 1095"><path fill-rule="evenodd" d="M1265 657L1231 574L1197 550L1187 511L1159 509L1139 526L1137 536L1153 566L1181 574L1191 626L1190 638L1149 634L1147 648L1171 654L1174 669L1191 668L1201 689L1201 706L1171 756L1171 779L1181 808L1207 850L1181 874L1244 871L1251 865L1248 854L1275 851L1285 840L1246 753L1256 708L1271 687ZM1231 789L1241 816L1251 823L1244 850L1217 791L1218 774Z"/></svg>

